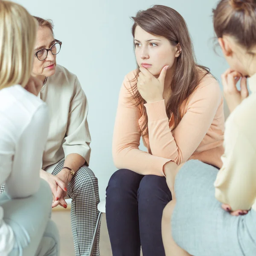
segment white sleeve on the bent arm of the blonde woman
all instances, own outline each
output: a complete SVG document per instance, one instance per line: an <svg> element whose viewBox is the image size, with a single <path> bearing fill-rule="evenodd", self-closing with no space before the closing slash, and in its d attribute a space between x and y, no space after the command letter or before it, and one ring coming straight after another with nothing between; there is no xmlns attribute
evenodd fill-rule
<svg viewBox="0 0 256 256"><path fill-rule="evenodd" d="M49 113L46 104L42 104L15 145L12 172L5 182L5 189L10 198L24 198L38 191L48 129Z"/></svg>

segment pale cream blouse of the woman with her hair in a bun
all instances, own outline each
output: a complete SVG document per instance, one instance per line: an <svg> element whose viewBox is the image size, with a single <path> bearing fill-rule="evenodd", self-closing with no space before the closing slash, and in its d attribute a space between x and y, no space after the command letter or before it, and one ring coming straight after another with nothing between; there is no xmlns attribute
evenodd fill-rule
<svg viewBox="0 0 256 256"><path fill-rule="evenodd" d="M248 82L252 93L227 119L215 181L215 197L233 210L256 210L256 74Z"/></svg>

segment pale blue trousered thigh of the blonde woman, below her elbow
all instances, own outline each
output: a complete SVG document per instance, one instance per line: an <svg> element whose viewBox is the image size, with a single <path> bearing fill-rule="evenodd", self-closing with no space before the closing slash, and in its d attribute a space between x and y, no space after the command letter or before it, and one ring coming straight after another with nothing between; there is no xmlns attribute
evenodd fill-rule
<svg viewBox="0 0 256 256"><path fill-rule="evenodd" d="M9 199L0 196L4 221L15 234L15 245L11 256L35 255L51 214L52 193L46 181L41 180L40 189L27 198Z"/></svg>

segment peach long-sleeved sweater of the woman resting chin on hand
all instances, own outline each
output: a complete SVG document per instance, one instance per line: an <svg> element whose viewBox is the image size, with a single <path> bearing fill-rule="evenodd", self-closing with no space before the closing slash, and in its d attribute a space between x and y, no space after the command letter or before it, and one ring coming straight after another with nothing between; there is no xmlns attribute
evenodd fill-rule
<svg viewBox="0 0 256 256"><path fill-rule="evenodd" d="M139 149L143 106L134 105L130 88L136 70L125 76L119 94L113 132L113 161L118 169L130 169L141 175L164 176L163 166L169 161L178 165L198 159L219 168L224 152L223 97L218 82L205 76L182 106L182 120L172 133L174 117L168 120L165 101L145 104L148 135L143 143L148 152Z"/></svg>

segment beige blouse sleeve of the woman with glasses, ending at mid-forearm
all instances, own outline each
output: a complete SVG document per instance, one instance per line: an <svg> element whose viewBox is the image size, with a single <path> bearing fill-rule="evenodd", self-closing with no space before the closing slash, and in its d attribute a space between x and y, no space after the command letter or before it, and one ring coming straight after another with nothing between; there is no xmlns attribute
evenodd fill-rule
<svg viewBox="0 0 256 256"><path fill-rule="evenodd" d="M79 154L84 157L87 166L90 160L90 131L87 122L88 102L79 80L76 78L74 95L70 102L67 133L64 138L63 150L68 154Z"/></svg>

